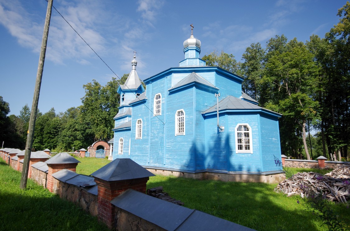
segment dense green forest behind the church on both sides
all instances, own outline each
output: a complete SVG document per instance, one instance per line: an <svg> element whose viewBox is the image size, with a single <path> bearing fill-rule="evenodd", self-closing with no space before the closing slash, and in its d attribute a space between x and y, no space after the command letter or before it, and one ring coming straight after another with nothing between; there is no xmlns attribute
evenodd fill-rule
<svg viewBox="0 0 350 231"><path fill-rule="evenodd" d="M320 155L335 160L349 156L350 3L338 10L338 24L320 38L304 42L284 35L246 48L242 60L224 51L203 56L208 66L219 66L244 77L242 90L259 106L282 114L279 120L281 152L297 159ZM82 105L65 112L54 108L38 112L33 148L73 151L97 140L113 138L113 117L118 113L121 80L105 86L96 80L83 85ZM24 149L30 108L8 115L10 105L0 96L0 146ZM311 135L311 131L316 131Z"/></svg>

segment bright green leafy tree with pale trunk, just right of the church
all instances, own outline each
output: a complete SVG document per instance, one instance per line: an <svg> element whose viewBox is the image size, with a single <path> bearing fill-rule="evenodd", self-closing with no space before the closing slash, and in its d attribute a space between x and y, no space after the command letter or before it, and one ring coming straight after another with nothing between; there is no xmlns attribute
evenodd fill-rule
<svg viewBox="0 0 350 231"><path fill-rule="evenodd" d="M264 81L272 83L274 91L266 107L276 109L283 114L282 119L294 120L299 125L299 131L281 133L293 136L293 133L300 132L307 159L310 159L305 127L308 120L314 121L317 118L318 103L314 101L313 94L318 86L317 78L315 79L318 67L313 61L313 54L296 38L290 40L285 47L280 46L272 52L266 62Z"/></svg>

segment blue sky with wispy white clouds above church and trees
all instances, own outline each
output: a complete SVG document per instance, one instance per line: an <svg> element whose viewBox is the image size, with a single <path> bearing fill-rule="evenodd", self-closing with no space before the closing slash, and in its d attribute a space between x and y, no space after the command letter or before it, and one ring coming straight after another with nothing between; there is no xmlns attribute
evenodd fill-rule
<svg viewBox="0 0 350 231"><path fill-rule="evenodd" d="M246 47L284 34L305 42L324 37L345 0L114 1L54 0L54 7L121 77L137 51L141 80L184 59L183 41L201 40L202 57L224 50L240 61ZM47 2L0 0L0 96L10 113L33 102ZM114 74L52 9L38 108L64 112L81 105L83 84L105 85Z"/></svg>

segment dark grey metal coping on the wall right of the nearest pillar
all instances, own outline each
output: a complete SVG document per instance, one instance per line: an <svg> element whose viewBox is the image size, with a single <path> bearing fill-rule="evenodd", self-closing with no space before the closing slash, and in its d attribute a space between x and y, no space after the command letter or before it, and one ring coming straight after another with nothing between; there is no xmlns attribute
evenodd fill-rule
<svg viewBox="0 0 350 231"><path fill-rule="evenodd" d="M245 226L163 201L133 189L128 189L111 203L169 231L253 231Z"/></svg>

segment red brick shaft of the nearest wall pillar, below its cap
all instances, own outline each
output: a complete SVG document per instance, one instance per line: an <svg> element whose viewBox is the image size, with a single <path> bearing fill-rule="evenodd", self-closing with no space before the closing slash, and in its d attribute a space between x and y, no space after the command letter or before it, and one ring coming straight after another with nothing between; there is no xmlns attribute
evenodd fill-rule
<svg viewBox="0 0 350 231"><path fill-rule="evenodd" d="M146 193L146 184L148 179L149 177L131 180L105 181L95 177L98 190L97 196L99 220L107 224L110 229L114 229L114 219L116 215L115 206L111 204L110 201L129 188L141 193Z"/></svg>

